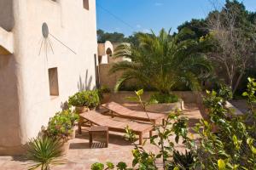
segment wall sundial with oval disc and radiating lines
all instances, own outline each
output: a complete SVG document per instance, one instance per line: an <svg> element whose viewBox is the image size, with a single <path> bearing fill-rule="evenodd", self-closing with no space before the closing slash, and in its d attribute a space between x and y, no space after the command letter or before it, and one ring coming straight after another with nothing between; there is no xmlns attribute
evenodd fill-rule
<svg viewBox="0 0 256 170"><path fill-rule="evenodd" d="M76 54L72 48L69 48L64 42L61 42L61 40L59 40L58 38L56 38L49 32L49 27L45 22L42 25L42 35L43 35L43 37L41 38L41 46L40 46L40 50L39 50L39 55L41 54L42 50L44 51L46 57L49 52L52 52L52 54L54 54L54 49L53 49L53 44L52 44L51 38L53 38L53 39L55 39L55 41L61 43L62 46L69 49L73 54Z"/></svg>

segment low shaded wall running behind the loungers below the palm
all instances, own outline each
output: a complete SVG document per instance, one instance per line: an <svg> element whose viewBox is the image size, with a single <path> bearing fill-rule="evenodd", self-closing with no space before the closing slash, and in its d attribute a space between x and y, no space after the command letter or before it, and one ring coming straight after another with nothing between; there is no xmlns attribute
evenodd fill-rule
<svg viewBox="0 0 256 170"><path fill-rule="evenodd" d="M150 99L150 96L155 92L144 92L142 98L143 100ZM173 94L177 94L177 96L183 99L184 103L199 103L200 95L195 94L194 92L190 91L174 91ZM135 92L127 92L121 91L118 93L110 94L110 101L114 101L117 103L131 103L131 100L127 99L128 97L135 97Z"/></svg>

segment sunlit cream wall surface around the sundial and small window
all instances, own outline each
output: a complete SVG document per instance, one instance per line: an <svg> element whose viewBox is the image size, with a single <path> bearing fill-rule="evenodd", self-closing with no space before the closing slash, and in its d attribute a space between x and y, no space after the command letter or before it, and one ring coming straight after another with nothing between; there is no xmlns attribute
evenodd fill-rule
<svg viewBox="0 0 256 170"><path fill-rule="evenodd" d="M14 68L17 75L15 77L17 80L13 83L15 83L14 90L17 91L18 105L15 111L10 111L8 114L20 123L14 130L19 131L19 134L12 144L18 148L19 145L26 144L28 139L35 137L41 126L47 125L50 116L56 111L61 111L61 104L68 99L68 96L79 91L81 87L87 88L90 78L90 88L95 87L96 4L95 0L90 0L88 11L83 8L83 0L59 0L58 3L51 0L19 0L15 1L14 10L15 56L12 58L15 58L15 62L9 67ZM53 37L49 37L53 43L54 54L49 52L46 57L45 53L41 52L38 55L40 40L43 37L41 26L44 22L48 24L49 32L72 48L76 54L55 41ZM58 68L60 95L55 98L49 95L48 69L52 67ZM0 78L3 81L9 79L9 77ZM6 84L0 84L0 89L1 86ZM0 101L1 98L2 96ZM0 105L0 116L3 116L1 108L11 102L7 100ZM4 124L6 127L0 130L0 135L9 138L5 130L13 122L4 122ZM0 154L14 152L9 151L11 147L9 150L4 150L7 141L9 139L0 140Z"/></svg>

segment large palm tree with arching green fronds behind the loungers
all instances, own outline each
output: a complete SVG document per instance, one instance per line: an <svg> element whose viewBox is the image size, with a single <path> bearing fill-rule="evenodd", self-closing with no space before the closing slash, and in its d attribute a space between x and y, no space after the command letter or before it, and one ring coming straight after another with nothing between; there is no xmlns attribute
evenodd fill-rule
<svg viewBox="0 0 256 170"><path fill-rule="evenodd" d="M115 57L126 57L129 61L120 61L113 65L110 73L124 71L116 83L115 89L129 80L156 88L161 94L170 94L172 88L186 83L192 90L201 88L200 78L212 70L204 54L199 53L199 42L180 41L177 34L170 35L164 29L159 36L138 33L139 46L122 43L116 48ZM204 73L204 74L202 74Z"/></svg>

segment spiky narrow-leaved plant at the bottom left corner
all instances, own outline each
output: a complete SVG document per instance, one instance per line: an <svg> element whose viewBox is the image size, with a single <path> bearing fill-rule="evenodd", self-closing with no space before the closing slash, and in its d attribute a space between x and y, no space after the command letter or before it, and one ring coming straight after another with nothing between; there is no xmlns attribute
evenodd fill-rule
<svg viewBox="0 0 256 170"><path fill-rule="evenodd" d="M38 167L41 170L49 170L50 166L60 165L65 162L61 158L61 142L49 137L39 137L32 139L28 144L27 159L32 164L28 169L33 170Z"/></svg>

